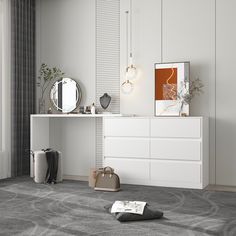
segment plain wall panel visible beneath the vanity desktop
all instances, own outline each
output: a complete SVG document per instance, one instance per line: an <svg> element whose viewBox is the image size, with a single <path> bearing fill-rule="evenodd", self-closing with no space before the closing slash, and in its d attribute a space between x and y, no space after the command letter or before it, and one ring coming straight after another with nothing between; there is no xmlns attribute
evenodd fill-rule
<svg viewBox="0 0 236 236"><path fill-rule="evenodd" d="M88 176L95 167L95 118L53 118L50 146L63 154L63 174Z"/></svg>

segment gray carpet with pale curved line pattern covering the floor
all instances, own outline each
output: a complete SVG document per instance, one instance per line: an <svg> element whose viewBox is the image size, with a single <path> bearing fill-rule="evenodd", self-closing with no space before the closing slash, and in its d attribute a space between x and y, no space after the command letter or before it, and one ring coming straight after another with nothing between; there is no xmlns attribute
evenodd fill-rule
<svg viewBox="0 0 236 236"><path fill-rule="evenodd" d="M120 223L104 205L147 201L165 218ZM35 184L29 178L0 181L0 235L236 235L236 193L122 185L95 192L86 182Z"/></svg>

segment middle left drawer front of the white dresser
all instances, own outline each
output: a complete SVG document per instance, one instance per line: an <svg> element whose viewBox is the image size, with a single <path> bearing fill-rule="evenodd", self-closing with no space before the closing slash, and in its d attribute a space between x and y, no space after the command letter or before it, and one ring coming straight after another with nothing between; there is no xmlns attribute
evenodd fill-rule
<svg viewBox="0 0 236 236"><path fill-rule="evenodd" d="M148 158L149 139L105 137L104 156Z"/></svg>

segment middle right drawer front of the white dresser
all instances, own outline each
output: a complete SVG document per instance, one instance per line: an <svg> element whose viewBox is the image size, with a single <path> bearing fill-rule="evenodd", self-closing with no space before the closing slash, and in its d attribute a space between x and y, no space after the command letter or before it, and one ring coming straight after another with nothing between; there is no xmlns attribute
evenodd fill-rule
<svg viewBox="0 0 236 236"><path fill-rule="evenodd" d="M151 139L151 158L201 160L201 141L185 139Z"/></svg>

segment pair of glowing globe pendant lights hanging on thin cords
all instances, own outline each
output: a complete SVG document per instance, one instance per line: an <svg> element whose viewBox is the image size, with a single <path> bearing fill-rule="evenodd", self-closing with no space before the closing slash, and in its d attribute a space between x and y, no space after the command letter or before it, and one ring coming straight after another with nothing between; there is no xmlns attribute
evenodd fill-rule
<svg viewBox="0 0 236 236"><path fill-rule="evenodd" d="M133 64L133 45L132 45L132 0L130 0L130 12L126 11L126 69L125 81L122 83L122 92L129 94L133 91L133 83L130 80L135 79L137 69Z"/></svg>

